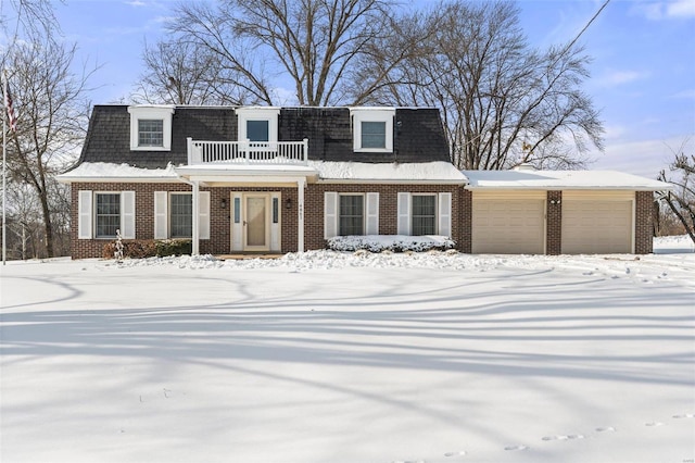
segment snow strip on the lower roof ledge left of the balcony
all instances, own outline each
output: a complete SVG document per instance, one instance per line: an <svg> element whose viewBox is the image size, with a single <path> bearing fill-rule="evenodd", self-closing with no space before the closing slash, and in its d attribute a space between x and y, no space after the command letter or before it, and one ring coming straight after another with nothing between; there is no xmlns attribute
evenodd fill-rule
<svg viewBox="0 0 695 463"><path fill-rule="evenodd" d="M72 171L60 174L61 182L72 180L117 180L117 179L166 179L177 178L172 164L165 168L141 168L128 164L112 164L109 162L84 162Z"/></svg>

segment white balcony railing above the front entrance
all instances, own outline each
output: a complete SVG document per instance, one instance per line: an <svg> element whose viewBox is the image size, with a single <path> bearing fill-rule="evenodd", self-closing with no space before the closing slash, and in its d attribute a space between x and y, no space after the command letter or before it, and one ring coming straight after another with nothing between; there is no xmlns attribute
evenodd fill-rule
<svg viewBox="0 0 695 463"><path fill-rule="evenodd" d="M200 141L188 138L188 164L303 164L308 140L302 141Z"/></svg>

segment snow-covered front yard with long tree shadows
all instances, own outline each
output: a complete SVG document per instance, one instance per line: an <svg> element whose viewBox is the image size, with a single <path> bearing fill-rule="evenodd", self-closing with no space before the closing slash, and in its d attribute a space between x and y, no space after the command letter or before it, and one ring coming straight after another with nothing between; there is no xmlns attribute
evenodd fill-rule
<svg viewBox="0 0 695 463"><path fill-rule="evenodd" d="M0 461L692 462L695 253L10 262Z"/></svg>

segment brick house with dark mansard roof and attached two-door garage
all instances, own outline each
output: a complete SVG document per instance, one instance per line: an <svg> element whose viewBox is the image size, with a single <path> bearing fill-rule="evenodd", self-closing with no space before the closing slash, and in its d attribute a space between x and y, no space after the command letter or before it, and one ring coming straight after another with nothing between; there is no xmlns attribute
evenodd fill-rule
<svg viewBox="0 0 695 463"><path fill-rule="evenodd" d="M72 186L72 255L125 239L193 253L440 235L463 252L652 251L654 191L620 173L459 172L439 111L97 105ZM608 238L607 238L608 237Z"/></svg>

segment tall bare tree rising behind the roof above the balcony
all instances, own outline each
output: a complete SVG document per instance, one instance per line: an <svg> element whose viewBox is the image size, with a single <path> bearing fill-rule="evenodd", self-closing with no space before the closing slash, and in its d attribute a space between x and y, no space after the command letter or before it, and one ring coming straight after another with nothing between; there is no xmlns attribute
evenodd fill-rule
<svg viewBox="0 0 695 463"><path fill-rule="evenodd" d="M184 4L170 26L172 42L215 57L211 78L215 87L236 88L231 99L274 104L281 99L276 86L281 75L299 104L349 103L361 97L346 79L350 68L375 38L391 34L391 15L390 0ZM167 78L159 76L160 88Z"/></svg>

